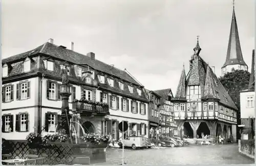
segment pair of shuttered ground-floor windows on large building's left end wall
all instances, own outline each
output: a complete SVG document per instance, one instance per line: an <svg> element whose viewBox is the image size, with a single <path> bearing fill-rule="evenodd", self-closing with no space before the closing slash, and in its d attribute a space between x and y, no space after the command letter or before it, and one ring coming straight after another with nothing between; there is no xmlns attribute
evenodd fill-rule
<svg viewBox="0 0 256 166"><path fill-rule="evenodd" d="M13 115L3 115L2 122L2 132L13 132L14 125L17 132L28 131L28 113L17 114L15 119Z"/></svg>

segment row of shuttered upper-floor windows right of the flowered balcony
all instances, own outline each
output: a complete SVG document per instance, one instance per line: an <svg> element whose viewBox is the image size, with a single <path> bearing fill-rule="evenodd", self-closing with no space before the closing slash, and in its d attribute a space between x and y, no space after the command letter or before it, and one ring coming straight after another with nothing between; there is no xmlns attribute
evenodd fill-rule
<svg viewBox="0 0 256 166"><path fill-rule="evenodd" d="M107 101L107 97L108 95L105 93L102 93L101 95L101 101L102 102L106 102ZM110 108L112 109L120 109L120 99L117 96L113 96L110 95ZM130 104L131 104L131 112L134 114L137 114L138 112L141 115L145 115L146 114L146 104L145 103L141 103L141 102L137 102L137 101L130 101L126 98L121 98L121 110L124 112L129 112L130 111Z"/></svg>

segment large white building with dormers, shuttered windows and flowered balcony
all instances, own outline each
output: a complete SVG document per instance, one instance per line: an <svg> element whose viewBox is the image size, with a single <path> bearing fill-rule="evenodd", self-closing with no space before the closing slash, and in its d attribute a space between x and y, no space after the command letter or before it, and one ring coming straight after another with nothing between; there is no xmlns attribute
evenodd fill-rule
<svg viewBox="0 0 256 166"><path fill-rule="evenodd" d="M2 60L3 138L25 140L30 132L54 133L61 114L61 69L68 68L73 134L111 134L118 140L121 121L129 133L147 136L148 99L144 87L127 71L53 40Z"/></svg>

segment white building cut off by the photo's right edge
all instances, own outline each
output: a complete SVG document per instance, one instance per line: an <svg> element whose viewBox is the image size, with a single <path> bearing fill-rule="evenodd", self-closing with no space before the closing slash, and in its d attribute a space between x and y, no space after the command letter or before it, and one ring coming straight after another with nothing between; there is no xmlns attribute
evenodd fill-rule
<svg viewBox="0 0 256 166"><path fill-rule="evenodd" d="M255 136L255 72L254 72L254 53L252 50L252 63L249 86L246 90L240 92L241 109L241 140L253 140Z"/></svg>

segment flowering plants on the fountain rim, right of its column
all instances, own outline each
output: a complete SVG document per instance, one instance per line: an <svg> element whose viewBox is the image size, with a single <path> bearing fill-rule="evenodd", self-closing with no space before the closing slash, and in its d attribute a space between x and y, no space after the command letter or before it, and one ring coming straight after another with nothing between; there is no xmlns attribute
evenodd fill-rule
<svg viewBox="0 0 256 166"><path fill-rule="evenodd" d="M99 135L97 133L88 133L81 136L81 140L84 142L100 144L100 142L108 143L109 135Z"/></svg>

